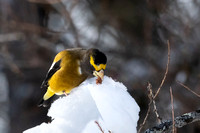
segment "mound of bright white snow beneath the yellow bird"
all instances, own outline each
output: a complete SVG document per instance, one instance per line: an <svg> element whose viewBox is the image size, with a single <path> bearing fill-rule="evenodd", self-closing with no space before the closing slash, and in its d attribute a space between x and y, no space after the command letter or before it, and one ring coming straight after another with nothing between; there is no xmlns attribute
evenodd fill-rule
<svg viewBox="0 0 200 133"><path fill-rule="evenodd" d="M24 133L102 133L100 128L104 133L136 133L139 111L122 83L105 76L96 85L91 78L51 105L47 114L51 123Z"/></svg>

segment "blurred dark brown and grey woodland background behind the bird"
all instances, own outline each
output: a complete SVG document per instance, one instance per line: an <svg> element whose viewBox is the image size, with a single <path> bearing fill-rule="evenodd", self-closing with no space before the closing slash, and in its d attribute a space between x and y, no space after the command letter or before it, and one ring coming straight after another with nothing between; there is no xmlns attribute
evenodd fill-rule
<svg viewBox="0 0 200 133"><path fill-rule="evenodd" d="M98 48L108 57L106 75L122 82L141 108L148 108L147 83L159 87L156 98L163 120L171 119L170 86L175 116L200 107L199 0L0 0L0 132L21 133L48 122L48 108L37 103L40 85L57 52L73 47ZM67 106L67 105L66 105ZM158 124L155 113L144 126ZM199 133L200 122L178 129Z"/></svg>

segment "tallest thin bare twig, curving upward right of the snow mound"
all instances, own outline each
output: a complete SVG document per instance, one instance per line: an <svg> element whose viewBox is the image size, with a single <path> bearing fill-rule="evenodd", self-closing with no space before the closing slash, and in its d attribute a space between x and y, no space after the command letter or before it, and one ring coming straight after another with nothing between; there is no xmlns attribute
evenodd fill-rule
<svg viewBox="0 0 200 133"><path fill-rule="evenodd" d="M158 88L158 90L156 91L156 94L154 95L154 98L155 99L157 97L157 95L159 94L160 92L160 89L161 87L163 86L164 82L165 82L165 79L167 77L167 73L168 73L168 70L169 70L169 63L170 63L170 43L169 43L169 40L167 40L167 46L168 46L168 57L167 57L167 67L166 67L166 71L165 71L165 74L164 74L164 77L162 79L162 82Z"/></svg>

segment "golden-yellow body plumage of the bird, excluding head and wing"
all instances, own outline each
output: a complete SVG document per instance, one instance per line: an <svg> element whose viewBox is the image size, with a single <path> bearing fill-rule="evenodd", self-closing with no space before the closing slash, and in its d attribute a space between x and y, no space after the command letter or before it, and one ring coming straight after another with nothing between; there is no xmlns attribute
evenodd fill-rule
<svg viewBox="0 0 200 133"><path fill-rule="evenodd" d="M74 54L73 51L64 50L56 55L53 64L61 60L60 69L48 81L49 87L44 95L44 100L54 94L62 95L64 92L67 94L70 93L74 87L87 78L80 71L79 59L79 55Z"/></svg>

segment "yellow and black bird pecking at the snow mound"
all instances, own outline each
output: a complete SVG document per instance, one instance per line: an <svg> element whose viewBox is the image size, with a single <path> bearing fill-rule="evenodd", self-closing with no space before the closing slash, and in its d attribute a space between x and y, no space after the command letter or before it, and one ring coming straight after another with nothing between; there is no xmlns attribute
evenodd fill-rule
<svg viewBox="0 0 200 133"><path fill-rule="evenodd" d="M68 95L87 78L103 80L107 57L98 49L71 48L59 52L48 70L41 88L46 89L38 106L47 107L54 95Z"/></svg>

